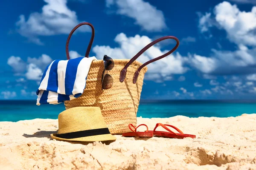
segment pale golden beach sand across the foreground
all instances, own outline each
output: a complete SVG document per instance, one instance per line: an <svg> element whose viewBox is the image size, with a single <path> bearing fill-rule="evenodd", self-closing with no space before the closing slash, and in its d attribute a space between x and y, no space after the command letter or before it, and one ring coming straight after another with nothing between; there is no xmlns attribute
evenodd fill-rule
<svg viewBox="0 0 256 170"><path fill-rule="evenodd" d="M137 120L150 129L157 122L175 125L196 139L116 135L103 144L62 142L49 136L58 130L55 119L0 122L0 169L256 170L256 114Z"/></svg>

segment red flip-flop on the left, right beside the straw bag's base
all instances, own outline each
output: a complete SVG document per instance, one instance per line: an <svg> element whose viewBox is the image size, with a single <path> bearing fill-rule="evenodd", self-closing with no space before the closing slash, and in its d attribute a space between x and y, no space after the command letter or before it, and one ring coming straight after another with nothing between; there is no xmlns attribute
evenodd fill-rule
<svg viewBox="0 0 256 170"><path fill-rule="evenodd" d="M137 132L137 128L142 125L147 127L147 130L145 132ZM128 127L129 127L129 129L131 129L132 132L122 133L122 136L125 136L125 137L153 137L153 131L148 131L148 126L145 124L141 124L141 125L137 126L136 128L134 127L134 125L129 124ZM133 127L134 129L132 129L131 127Z"/></svg>

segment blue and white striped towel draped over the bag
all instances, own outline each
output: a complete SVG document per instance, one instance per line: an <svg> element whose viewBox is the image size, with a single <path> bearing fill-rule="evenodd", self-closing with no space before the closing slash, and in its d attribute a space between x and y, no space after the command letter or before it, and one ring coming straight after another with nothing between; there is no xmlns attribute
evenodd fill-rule
<svg viewBox="0 0 256 170"><path fill-rule="evenodd" d="M96 57L54 60L50 63L36 91L36 104L59 104L81 96L93 60Z"/></svg>

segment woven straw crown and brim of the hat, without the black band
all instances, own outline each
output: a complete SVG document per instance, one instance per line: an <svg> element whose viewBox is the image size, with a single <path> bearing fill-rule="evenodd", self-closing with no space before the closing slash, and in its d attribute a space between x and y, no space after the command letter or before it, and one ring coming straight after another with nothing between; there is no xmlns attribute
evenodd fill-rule
<svg viewBox="0 0 256 170"><path fill-rule="evenodd" d="M98 107L76 107L63 111L58 115L58 125L58 134L107 127L101 110ZM86 136L75 139L59 138L56 137L56 134L52 134L51 137L57 140L84 142L116 140L116 137L111 134Z"/></svg>

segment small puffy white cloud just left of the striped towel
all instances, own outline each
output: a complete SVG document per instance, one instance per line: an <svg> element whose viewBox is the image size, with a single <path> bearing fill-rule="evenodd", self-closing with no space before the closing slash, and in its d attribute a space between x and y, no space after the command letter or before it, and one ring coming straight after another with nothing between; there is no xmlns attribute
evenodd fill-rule
<svg viewBox="0 0 256 170"><path fill-rule="evenodd" d="M29 80L41 80L43 72L35 64L29 64L27 66L26 78Z"/></svg>

